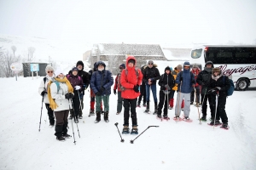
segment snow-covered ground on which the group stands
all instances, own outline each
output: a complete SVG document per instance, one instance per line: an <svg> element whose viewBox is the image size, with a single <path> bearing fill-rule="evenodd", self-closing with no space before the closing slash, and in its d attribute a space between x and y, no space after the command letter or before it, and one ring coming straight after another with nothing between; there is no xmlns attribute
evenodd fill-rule
<svg viewBox="0 0 256 170"><path fill-rule="evenodd" d="M78 128L73 124L74 139L59 142L54 128L49 128L43 107L41 131L38 132L42 98L38 85L42 77L0 79L0 169L256 169L256 92L237 92L227 99L230 130L199 124L198 111L191 106L193 122L160 122L137 108L139 133L120 137L123 114L116 115L117 96L110 96L110 122L94 123L89 114L89 93L84 96L84 118ZM159 89L159 88L158 88ZM176 99L176 96L175 96ZM151 99L151 110L154 108ZM169 110L169 116L174 111ZM46 121L45 121L46 120ZM73 135L69 121L68 133Z"/></svg>

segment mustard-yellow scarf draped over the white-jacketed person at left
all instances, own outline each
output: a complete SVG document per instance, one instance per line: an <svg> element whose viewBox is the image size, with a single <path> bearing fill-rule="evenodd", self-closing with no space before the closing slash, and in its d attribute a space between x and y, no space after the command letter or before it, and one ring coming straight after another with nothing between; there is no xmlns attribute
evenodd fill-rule
<svg viewBox="0 0 256 170"><path fill-rule="evenodd" d="M55 77L55 81L57 81L57 82L66 82L67 88L68 88L68 93L73 93L73 88L72 88L70 82L67 80L67 77L64 77L63 79ZM49 98L49 107L52 110L55 110L58 107L58 105L55 103L55 100L52 99L52 97L51 97L50 88L49 88L50 84L52 82L55 82L55 81L49 81L49 86L47 88L47 94L48 94L48 98Z"/></svg>

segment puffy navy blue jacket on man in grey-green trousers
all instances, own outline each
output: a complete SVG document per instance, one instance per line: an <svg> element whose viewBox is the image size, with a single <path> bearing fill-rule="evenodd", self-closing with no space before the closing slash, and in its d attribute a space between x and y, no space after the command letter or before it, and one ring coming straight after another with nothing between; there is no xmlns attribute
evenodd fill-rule
<svg viewBox="0 0 256 170"><path fill-rule="evenodd" d="M96 94L101 88L105 88L102 95L111 94L111 86L113 85L112 73L107 70L94 71L90 79L90 88Z"/></svg>

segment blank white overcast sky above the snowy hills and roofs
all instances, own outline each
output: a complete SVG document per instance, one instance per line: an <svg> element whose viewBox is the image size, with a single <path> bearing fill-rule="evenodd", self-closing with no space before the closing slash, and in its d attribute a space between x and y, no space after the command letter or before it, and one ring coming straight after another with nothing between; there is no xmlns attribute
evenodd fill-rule
<svg viewBox="0 0 256 170"><path fill-rule="evenodd" d="M255 0L0 0L0 33L61 41L253 43Z"/></svg>

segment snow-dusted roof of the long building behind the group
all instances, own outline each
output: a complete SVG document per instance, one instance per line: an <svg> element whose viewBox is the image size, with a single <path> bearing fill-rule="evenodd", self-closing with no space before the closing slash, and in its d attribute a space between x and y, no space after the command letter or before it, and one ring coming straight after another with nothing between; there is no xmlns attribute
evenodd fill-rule
<svg viewBox="0 0 256 170"><path fill-rule="evenodd" d="M99 43L94 44L92 56L97 55L133 55L133 56L165 56L159 44L125 44Z"/></svg>

